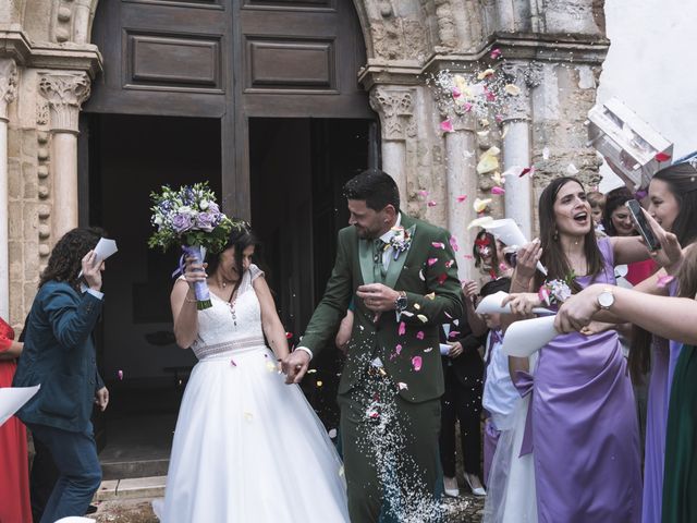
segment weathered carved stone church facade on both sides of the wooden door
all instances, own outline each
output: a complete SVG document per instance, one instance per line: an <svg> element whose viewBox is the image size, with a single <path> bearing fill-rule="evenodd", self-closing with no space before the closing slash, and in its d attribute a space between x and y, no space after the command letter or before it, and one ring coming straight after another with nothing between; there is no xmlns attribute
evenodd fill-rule
<svg viewBox="0 0 697 523"><path fill-rule="evenodd" d="M515 180L492 204L494 215L514 217L530 234L534 200L550 178L573 171L573 163L583 179L597 180L583 122L609 45L602 0L354 3L368 57L359 78L381 121L383 168L398 179L409 214L447 226L468 251L474 231L466 226L476 216L470 202L492 185L475 168L491 146L502 149L502 170L536 168L531 180ZM0 3L0 126L7 136L0 294L9 296L4 305L0 300L0 315L15 326L52 242L77 222L76 118L101 70L99 50L89 42L96 7L97 0ZM521 89L514 107L489 130L463 115L443 133L440 122L450 114L427 78L486 66L494 48ZM468 203L455 205L460 194ZM462 265L464 278L470 264Z"/></svg>

